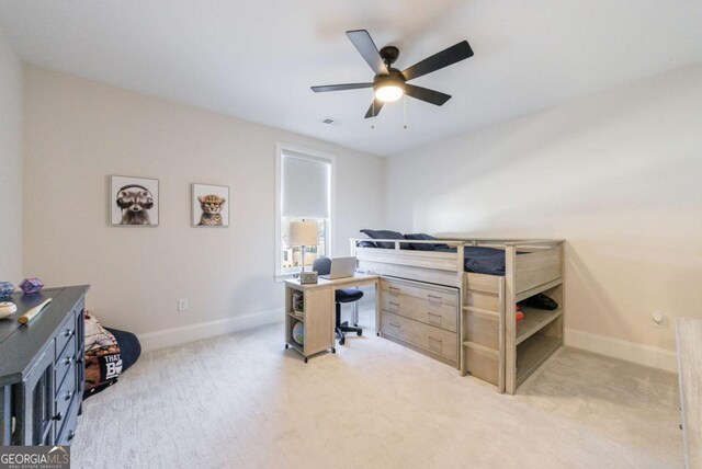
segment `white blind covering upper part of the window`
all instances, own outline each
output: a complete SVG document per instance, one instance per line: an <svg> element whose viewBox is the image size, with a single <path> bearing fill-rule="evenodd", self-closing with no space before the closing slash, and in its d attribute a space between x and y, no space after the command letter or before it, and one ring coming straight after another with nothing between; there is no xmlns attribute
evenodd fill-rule
<svg viewBox="0 0 702 469"><path fill-rule="evenodd" d="M330 164L287 151L282 157L281 215L329 218Z"/></svg>

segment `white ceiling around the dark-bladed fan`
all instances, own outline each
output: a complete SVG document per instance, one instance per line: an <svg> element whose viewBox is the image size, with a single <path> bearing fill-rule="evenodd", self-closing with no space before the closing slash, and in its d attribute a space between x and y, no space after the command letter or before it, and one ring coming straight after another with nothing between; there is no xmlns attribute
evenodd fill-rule
<svg viewBox="0 0 702 469"><path fill-rule="evenodd" d="M372 79L355 28L399 69L462 39L475 56L412 82L443 107L408 99L404 129L389 104L372 129L372 90L309 90ZM702 61L700 0L0 0L0 30L39 66L375 155Z"/></svg>

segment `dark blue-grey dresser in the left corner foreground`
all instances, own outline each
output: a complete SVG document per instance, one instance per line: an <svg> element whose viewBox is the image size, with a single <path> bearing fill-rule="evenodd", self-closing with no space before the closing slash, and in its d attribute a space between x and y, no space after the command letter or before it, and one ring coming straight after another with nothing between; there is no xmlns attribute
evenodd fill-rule
<svg viewBox="0 0 702 469"><path fill-rule="evenodd" d="M0 443L69 445L84 388L88 286L12 295L18 311L0 319ZM27 324L18 318L47 298Z"/></svg>

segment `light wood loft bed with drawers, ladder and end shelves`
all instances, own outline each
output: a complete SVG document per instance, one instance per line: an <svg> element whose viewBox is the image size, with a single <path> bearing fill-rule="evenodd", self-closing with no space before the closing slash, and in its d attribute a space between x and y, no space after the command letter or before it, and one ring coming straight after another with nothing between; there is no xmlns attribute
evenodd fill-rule
<svg viewBox="0 0 702 469"><path fill-rule="evenodd" d="M431 238L431 237L429 237ZM513 394L563 344L564 240L351 239L382 276L381 336ZM555 310L519 305L537 294ZM508 313L509 312L509 313Z"/></svg>

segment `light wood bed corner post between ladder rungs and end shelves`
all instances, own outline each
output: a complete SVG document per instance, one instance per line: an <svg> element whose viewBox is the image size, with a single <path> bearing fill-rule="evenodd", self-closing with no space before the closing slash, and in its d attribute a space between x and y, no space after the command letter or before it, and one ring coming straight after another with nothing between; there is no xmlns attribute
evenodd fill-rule
<svg viewBox="0 0 702 469"><path fill-rule="evenodd" d="M505 391L509 394L517 390L516 258L517 243L505 243Z"/></svg>

